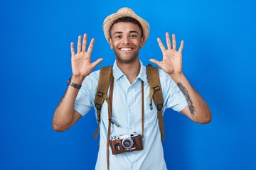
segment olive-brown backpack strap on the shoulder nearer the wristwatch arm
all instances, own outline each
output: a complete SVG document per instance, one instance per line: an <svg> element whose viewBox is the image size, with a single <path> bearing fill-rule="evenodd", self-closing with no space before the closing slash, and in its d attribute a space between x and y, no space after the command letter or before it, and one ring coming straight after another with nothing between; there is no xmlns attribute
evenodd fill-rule
<svg viewBox="0 0 256 170"><path fill-rule="evenodd" d="M97 109L97 130L95 131L95 134L93 137L97 137L99 133L99 126L100 126L100 111L102 108L102 104L104 101L107 101L109 104L110 101L107 98L107 89L110 86L110 77L112 74L112 66L110 67L102 67L100 69L100 78L98 81L98 86L97 86L97 93L95 95L95 108Z"/></svg>

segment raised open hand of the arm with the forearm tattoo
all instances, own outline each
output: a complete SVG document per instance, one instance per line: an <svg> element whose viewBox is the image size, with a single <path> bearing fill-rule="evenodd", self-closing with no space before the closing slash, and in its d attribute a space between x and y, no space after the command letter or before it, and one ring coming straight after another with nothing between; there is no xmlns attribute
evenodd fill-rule
<svg viewBox="0 0 256 170"><path fill-rule="evenodd" d="M172 47L169 33L166 33L167 49L164 47L160 38L157 38L157 42L159 42L159 47L163 53L163 60L158 61L155 59L150 59L150 61L158 65L161 69L164 70L164 72L168 74L182 73L182 50L184 41L181 41L181 45L178 51L176 50L175 34L172 35Z"/></svg>

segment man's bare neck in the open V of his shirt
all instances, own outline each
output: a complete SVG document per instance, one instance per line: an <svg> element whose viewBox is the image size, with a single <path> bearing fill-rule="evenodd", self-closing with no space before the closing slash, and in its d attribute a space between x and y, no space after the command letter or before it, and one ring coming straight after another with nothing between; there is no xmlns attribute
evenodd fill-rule
<svg viewBox="0 0 256 170"><path fill-rule="evenodd" d="M132 63L117 62L117 66L125 74L130 84L133 84L140 72L139 60Z"/></svg>

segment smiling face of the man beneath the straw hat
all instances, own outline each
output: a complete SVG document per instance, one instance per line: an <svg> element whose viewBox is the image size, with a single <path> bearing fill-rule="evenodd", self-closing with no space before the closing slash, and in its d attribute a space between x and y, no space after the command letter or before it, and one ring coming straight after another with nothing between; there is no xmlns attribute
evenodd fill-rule
<svg viewBox="0 0 256 170"><path fill-rule="evenodd" d="M135 23L114 23L108 38L117 62L132 63L139 60L139 50L144 45L142 31Z"/></svg>

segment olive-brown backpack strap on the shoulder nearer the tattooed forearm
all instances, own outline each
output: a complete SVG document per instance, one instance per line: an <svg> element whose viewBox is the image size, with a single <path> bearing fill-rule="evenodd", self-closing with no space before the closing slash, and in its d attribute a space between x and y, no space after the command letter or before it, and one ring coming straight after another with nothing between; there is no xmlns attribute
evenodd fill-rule
<svg viewBox="0 0 256 170"><path fill-rule="evenodd" d="M164 106L164 98L161 91L161 84L159 79L159 72L157 67L153 67L151 64L146 66L146 74L149 81L150 95L149 103L151 110L152 107L152 98L154 98L154 103L157 108L157 117L159 119L159 129L161 132L161 141L164 142L164 118L162 114L162 109Z"/></svg>

